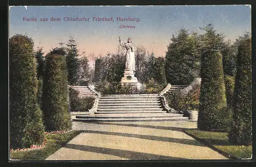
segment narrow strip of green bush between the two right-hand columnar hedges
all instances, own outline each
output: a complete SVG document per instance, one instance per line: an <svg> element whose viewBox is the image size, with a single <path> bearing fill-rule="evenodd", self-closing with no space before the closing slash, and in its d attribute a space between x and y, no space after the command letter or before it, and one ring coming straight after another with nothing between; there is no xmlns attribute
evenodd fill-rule
<svg viewBox="0 0 256 167"><path fill-rule="evenodd" d="M234 92L234 77L225 76L224 79L225 79L227 106L232 107L233 92Z"/></svg>

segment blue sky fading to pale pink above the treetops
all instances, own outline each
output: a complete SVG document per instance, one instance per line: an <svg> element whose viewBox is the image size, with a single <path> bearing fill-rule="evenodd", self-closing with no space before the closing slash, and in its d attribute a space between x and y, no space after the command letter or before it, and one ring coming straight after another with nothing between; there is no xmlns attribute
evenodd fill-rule
<svg viewBox="0 0 256 167"><path fill-rule="evenodd" d="M181 29L202 33L200 27L208 23L215 26L225 39L235 40L245 32L251 32L251 9L245 5L194 5L194 6L15 6L10 7L9 37L23 34L34 40L35 49L43 51L67 43L73 36L80 52L96 56L115 52L123 41L132 37L136 45L143 45L156 56L165 56L172 34ZM26 18L37 21L26 21ZM60 21L50 19L60 18ZM88 21L65 21L67 17L90 18ZM97 18L111 18L113 21L95 21ZM118 21L117 17L135 18L136 21ZM39 21L48 18L48 21ZM120 28L135 26L135 28ZM121 26L121 27L123 27Z"/></svg>

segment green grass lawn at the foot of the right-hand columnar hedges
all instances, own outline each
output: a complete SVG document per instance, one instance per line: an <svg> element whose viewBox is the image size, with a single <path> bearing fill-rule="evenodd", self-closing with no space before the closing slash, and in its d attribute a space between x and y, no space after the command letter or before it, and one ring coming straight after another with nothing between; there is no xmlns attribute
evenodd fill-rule
<svg viewBox="0 0 256 167"><path fill-rule="evenodd" d="M251 158L252 146L235 146L228 141L228 133L207 132L201 130L186 130L186 134L211 146L224 156L231 159Z"/></svg>

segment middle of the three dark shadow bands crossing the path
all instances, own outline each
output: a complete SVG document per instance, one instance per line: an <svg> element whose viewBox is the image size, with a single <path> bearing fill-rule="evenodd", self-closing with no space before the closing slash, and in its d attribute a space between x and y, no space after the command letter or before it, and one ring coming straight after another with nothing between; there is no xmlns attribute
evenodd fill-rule
<svg viewBox="0 0 256 167"><path fill-rule="evenodd" d="M204 146L195 139L183 139L183 138L173 138L173 137L163 137L163 136L153 136L153 135L142 135L142 134L133 134L133 133L120 133L120 132L106 132L106 131L94 131L94 130L84 130L83 133L97 133L97 134L106 134L106 135L115 135L115 136L124 136L124 137L135 137L148 140L156 141L168 141L176 142L184 145L193 145L193 146Z"/></svg>

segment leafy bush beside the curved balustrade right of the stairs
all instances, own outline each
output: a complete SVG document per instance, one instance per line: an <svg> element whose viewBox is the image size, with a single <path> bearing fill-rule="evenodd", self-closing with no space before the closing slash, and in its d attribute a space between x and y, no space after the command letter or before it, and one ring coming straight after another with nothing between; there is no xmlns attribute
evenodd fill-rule
<svg viewBox="0 0 256 167"><path fill-rule="evenodd" d="M184 92L183 90L173 91L168 94L167 102L169 107L178 111L183 110L199 110L200 85L195 84L191 90Z"/></svg>

